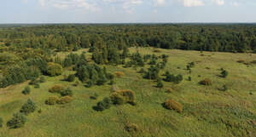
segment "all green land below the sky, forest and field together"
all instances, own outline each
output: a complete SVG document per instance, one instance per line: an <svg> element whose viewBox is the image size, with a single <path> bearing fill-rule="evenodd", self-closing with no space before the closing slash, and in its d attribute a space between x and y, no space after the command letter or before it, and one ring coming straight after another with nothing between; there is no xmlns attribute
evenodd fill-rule
<svg viewBox="0 0 256 137"><path fill-rule="evenodd" d="M149 24L3 28L0 136L253 137L255 30Z"/></svg>

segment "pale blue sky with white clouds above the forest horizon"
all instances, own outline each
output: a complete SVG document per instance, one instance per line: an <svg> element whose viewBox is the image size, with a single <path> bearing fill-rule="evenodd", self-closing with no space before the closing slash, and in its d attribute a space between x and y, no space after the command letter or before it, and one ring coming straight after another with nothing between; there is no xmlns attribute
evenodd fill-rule
<svg viewBox="0 0 256 137"><path fill-rule="evenodd" d="M256 0L0 0L0 23L256 22Z"/></svg>

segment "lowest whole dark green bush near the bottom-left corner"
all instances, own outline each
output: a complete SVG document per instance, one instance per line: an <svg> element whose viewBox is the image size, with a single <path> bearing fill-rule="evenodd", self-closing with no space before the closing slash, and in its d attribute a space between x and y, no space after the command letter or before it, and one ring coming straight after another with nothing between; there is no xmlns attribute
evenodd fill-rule
<svg viewBox="0 0 256 137"><path fill-rule="evenodd" d="M20 128L26 123L26 117L23 113L15 113L11 120L7 122L9 128Z"/></svg>

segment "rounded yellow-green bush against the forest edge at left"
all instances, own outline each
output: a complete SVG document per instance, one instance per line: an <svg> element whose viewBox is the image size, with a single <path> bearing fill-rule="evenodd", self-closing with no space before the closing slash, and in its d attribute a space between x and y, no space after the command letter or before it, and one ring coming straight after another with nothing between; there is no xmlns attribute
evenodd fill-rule
<svg viewBox="0 0 256 137"><path fill-rule="evenodd" d="M62 66L59 65L59 64L55 64L55 63L52 63L52 62L49 62L48 63L48 66L47 66L47 74L49 76L59 76L61 75L63 69L62 69Z"/></svg>

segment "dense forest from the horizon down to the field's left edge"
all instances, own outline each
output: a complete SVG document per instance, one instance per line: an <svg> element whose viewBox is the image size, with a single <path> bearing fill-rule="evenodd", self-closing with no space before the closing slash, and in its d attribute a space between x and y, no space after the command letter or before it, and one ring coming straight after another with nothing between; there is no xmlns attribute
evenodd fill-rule
<svg viewBox="0 0 256 137"><path fill-rule="evenodd" d="M256 52L254 25L42 25L0 30L0 87L49 74L50 67L76 65L61 51L90 49L96 64L125 64L128 48L154 47L220 52ZM136 58L136 55L134 55ZM137 59L136 59L137 60ZM140 65L127 62L125 66ZM51 68L51 69L52 69ZM61 68L59 68L61 69ZM54 74L55 75L55 74Z"/></svg>

